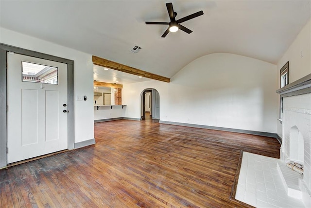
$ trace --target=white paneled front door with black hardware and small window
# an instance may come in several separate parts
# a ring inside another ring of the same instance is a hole
[[[7,163],[68,149],[67,64],[7,55]]]

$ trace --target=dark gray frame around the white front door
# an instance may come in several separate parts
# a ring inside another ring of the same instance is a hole
[[[68,65],[68,149],[74,148],[74,96],[73,96],[73,60],[55,57],[23,48],[0,43],[0,168],[7,166],[7,52],[38,57]]]

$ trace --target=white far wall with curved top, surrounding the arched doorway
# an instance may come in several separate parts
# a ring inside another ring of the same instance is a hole
[[[146,88],[160,94],[160,120],[276,133],[276,65],[234,54],[200,57],[171,83],[124,84],[124,117],[139,118]]]

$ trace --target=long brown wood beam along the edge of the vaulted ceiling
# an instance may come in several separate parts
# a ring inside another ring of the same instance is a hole
[[[107,60],[107,59],[104,59],[104,58],[101,58],[101,57],[93,56],[92,59],[93,59],[93,63],[95,65],[98,65],[98,66],[103,66],[103,67],[107,67],[107,68],[110,68],[110,69],[114,69],[114,70],[118,70],[118,71],[121,71],[121,72],[125,72],[125,73],[128,73],[128,74],[137,75],[137,76],[143,76],[143,77],[146,77],[146,78],[151,78],[151,79],[155,79],[155,80],[159,80],[159,81],[163,81],[163,82],[171,82],[171,79],[168,78],[168,77],[160,76],[160,75],[155,75],[153,73],[145,72],[145,71],[142,71],[140,69],[136,69],[134,67],[126,66],[124,64],[117,63],[117,62],[114,62],[114,61],[110,61],[110,60]]]

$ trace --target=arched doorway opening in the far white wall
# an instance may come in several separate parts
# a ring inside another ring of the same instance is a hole
[[[140,116],[142,120],[160,119],[160,95],[154,88],[147,88],[140,95]]]

